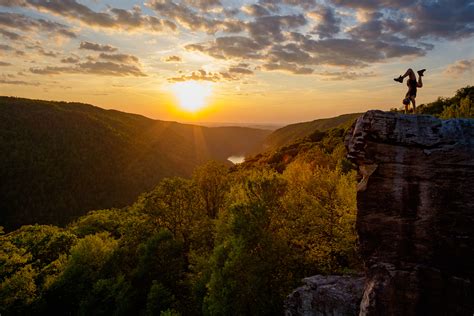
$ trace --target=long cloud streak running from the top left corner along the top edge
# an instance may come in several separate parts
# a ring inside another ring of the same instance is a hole
[[[0,5],[33,8],[77,20],[88,26],[102,28],[150,32],[176,29],[176,25],[170,21],[144,15],[139,6],[134,6],[131,10],[108,8],[104,12],[95,12],[76,0],[0,0]]]

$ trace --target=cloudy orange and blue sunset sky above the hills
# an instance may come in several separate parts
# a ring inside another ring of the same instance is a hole
[[[472,0],[0,0],[0,95],[180,122],[401,107],[473,84]]]

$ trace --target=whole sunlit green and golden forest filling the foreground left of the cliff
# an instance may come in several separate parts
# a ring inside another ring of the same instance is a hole
[[[208,163],[66,228],[0,234],[0,313],[282,314],[301,278],[359,268],[343,132]]]

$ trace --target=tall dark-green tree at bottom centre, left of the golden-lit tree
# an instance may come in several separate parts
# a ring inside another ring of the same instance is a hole
[[[255,172],[234,188],[239,197],[223,214],[211,257],[205,313],[275,315],[291,288],[288,249],[273,233],[284,182],[273,172]]]

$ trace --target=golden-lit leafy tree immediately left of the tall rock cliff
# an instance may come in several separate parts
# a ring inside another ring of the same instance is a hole
[[[305,273],[339,273],[357,264],[355,173],[295,161],[283,177],[279,233],[296,251]]]

